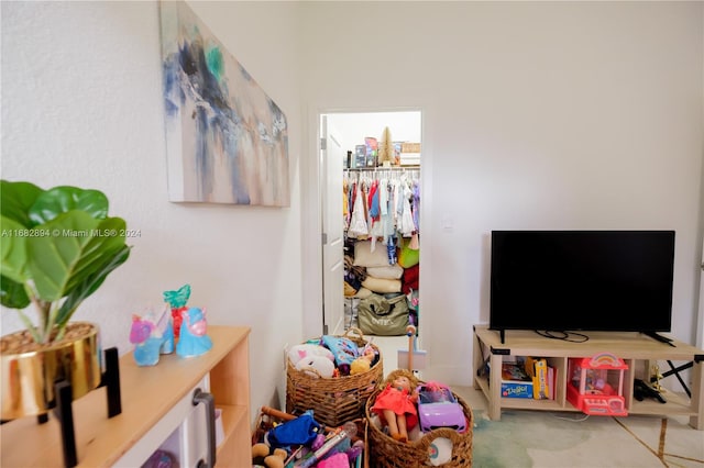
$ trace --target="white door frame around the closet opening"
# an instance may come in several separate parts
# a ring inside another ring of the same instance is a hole
[[[320,118],[330,113],[373,113],[373,112],[420,112],[420,140],[426,145],[426,110],[419,105],[398,108],[326,108],[311,107],[306,112],[307,142],[304,154],[308,157],[300,159],[300,199],[301,199],[301,278],[302,278],[302,335],[319,336],[322,333],[322,164],[320,141],[322,137]],[[428,171],[428,160],[420,164],[420,183],[424,193],[425,172]],[[420,230],[422,231],[426,213],[424,205],[428,201],[425,196],[420,201]],[[424,249],[424,257],[428,257],[429,249]]]

